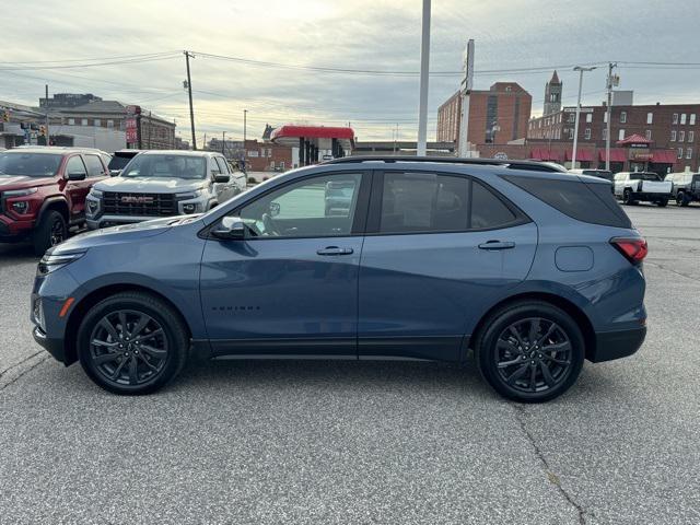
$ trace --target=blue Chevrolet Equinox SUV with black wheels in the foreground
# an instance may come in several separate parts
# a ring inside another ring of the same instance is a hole
[[[536,402],[565,392],[584,359],[640,348],[645,255],[600,178],[525,161],[343,158],[201,215],[49,249],[32,319],[56,359],[117,394],[161,388],[190,354],[472,353],[497,392]]]

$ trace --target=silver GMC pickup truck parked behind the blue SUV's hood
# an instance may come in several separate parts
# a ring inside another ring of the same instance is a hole
[[[246,190],[245,174],[230,172],[221,153],[143,151],[88,196],[88,228],[201,213]]]

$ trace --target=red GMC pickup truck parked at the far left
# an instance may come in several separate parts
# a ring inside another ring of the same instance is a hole
[[[35,147],[0,153],[0,241],[28,238],[36,255],[85,224],[85,197],[108,176],[105,153]]]

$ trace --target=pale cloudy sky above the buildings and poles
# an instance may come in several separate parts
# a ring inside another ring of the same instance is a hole
[[[205,132],[222,131],[241,138],[244,108],[248,137],[258,137],[266,122],[308,121],[351,122],[360,140],[392,140],[398,126],[400,138],[415,140],[421,4],[3,0],[0,100],[37,105],[48,83],[51,93],[90,92],[140,104],[176,119],[179,133],[188,138],[182,85],[182,51],[188,49],[196,55],[191,70],[198,140]],[[533,95],[534,114],[541,112],[551,69],[557,67],[564,81],[564,104],[573,105],[578,79],[571,67],[609,60],[674,62],[621,65],[620,89],[634,90],[635,103],[700,102],[700,66],[676,65],[700,61],[697,0],[432,4],[429,140],[435,136],[438,106],[457,89],[459,75],[451,72],[462,67],[467,38],[476,40],[475,89],[488,89],[494,81],[518,82]],[[397,71],[408,74],[380,74]],[[587,73],[584,104],[604,98],[605,74],[604,67]]]

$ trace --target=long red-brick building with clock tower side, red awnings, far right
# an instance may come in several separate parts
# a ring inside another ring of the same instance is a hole
[[[547,143],[573,142],[575,107],[534,118],[528,125],[528,142]],[[584,143],[595,148],[605,148],[607,132],[606,106],[586,106],[581,108],[579,122],[579,148]],[[650,161],[668,161],[667,150],[674,150],[674,170],[698,170],[700,149],[700,104],[653,104],[653,105],[614,105],[610,118],[610,148],[633,135],[649,142]],[[642,154],[642,153],[640,153]],[[619,152],[617,153],[619,158]],[[610,154],[612,160],[614,153]],[[632,159],[626,159],[632,161]],[[621,162],[621,161],[617,161]],[[629,163],[628,163],[629,164]],[[664,162],[663,164],[669,164]],[[653,166],[652,166],[653,167]]]

